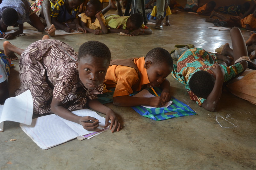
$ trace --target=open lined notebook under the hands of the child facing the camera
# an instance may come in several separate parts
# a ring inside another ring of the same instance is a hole
[[[95,136],[97,135],[95,132],[102,132],[100,130],[108,129],[104,128],[105,118],[90,109],[75,110],[72,113],[78,116],[95,117],[100,121],[99,127],[95,130],[85,130],[82,125],[63,119],[55,114],[33,119],[30,126],[20,123],[20,127],[42,149],[49,149],[78,136],[83,136],[79,139]]]

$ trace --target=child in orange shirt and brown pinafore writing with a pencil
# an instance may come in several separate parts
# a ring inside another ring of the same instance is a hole
[[[171,73],[173,61],[170,53],[163,48],[154,48],[146,57],[116,59],[110,62],[104,84],[108,89],[114,88],[113,104],[116,106],[163,107],[170,101],[170,83],[166,77]],[[160,86],[161,96],[137,98],[129,96],[143,87]]]

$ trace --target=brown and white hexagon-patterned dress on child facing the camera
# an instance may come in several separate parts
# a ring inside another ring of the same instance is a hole
[[[52,96],[69,111],[86,106],[86,92],[77,88],[77,54],[74,49],[59,40],[39,40],[28,46],[20,56],[21,86],[15,92],[19,95],[30,90],[34,103],[34,114],[52,113]],[[88,94],[97,99],[103,92],[103,83]]]

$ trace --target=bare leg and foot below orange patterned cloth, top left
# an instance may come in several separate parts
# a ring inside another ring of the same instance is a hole
[[[55,3],[55,0],[51,0],[52,3]],[[47,25],[48,34],[50,36],[55,35],[55,26],[51,21],[51,3],[50,0],[36,0],[31,4],[31,10],[36,13],[44,25]]]

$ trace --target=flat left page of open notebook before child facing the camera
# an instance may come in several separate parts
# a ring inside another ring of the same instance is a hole
[[[30,126],[20,124],[21,129],[42,149],[48,149],[74,139],[78,134],[55,115],[41,116]]]

